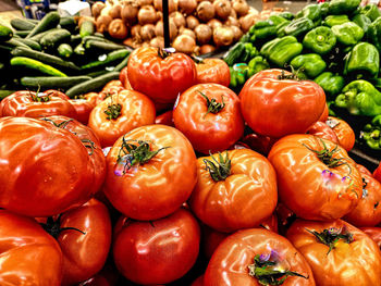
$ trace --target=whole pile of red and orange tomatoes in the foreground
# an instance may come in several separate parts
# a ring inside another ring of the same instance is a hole
[[[381,166],[314,82],[229,83],[138,48],[100,92],[2,100],[0,285],[381,286]]]

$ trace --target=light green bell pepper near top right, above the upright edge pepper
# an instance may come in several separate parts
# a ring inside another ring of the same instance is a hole
[[[364,37],[364,30],[353,22],[335,25],[331,29],[337,41],[344,46],[356,45]]]

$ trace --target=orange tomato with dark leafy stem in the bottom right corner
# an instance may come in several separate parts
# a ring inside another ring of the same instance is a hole
[[[381,252],[355,226],[342,220],[297,220],[287,238],[308,261],[317,285],[381,285]]]

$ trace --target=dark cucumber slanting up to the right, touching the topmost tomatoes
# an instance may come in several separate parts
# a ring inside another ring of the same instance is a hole
[[[84,82],[76,86],[73,86],[66,91],[66,96],[70,98],[74,98],[75,96],[85,95],[89,91],[97,91],[106,86],[107,83],[113,79],[119,78],[119,72],[111,72],[105,75],[95,77],[90,80]]]

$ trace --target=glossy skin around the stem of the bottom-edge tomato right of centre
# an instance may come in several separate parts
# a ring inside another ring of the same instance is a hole
[[[259,228],[238,231],[221,243],[209,261],[204,285],[259,286],[258,279],[248,274],[248,265],[257,254],[270,256],[271,252],[276,253],[290,271],[307,277],[287,277],[282,285],[316,285],[311,269],[299,251],[284,237]]]

